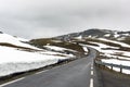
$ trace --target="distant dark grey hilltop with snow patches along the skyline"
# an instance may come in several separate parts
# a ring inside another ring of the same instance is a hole
[[[130,32],[117,32],[117,30],[108,30],[108,29],[98,29],[92,28],[80,33],[73,33],[68,35],[63,35],[55,37],[56,39],[69,41],[74,38],[106,38],[112,40],[123,41],[130,44]]]

